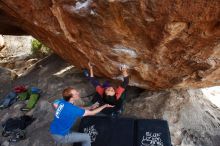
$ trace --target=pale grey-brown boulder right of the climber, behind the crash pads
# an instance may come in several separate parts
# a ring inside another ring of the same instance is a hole
[[[219,111],[201,90],[143,92],[125,106],[127,116],[167,120],[173,146],[219,146]]]

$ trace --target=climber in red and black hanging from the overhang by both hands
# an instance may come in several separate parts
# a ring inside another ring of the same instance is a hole
[[[96,94],[94,95],[92,102],[95,103],[98,101],[100,105],[106,103],[114,105],[113,108],[105,109],[102,111],[102,113],[111,116],[120,115],[123,111],[123,103],[126,97],[126,87],[129,83],[127,67],[124,65],[120,68],[124,81],[121,83],[120,86],[115,89],[108,82],[105,82],[103,85],[101,85],[99,81],[96,80],[96,78],[94,77],[93,65],[91,63],[88,63],[88,66],[90,74],[86,69],[83,71],[83,73],[96,88]]]

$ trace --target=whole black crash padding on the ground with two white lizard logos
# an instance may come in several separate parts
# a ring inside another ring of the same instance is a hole
[[[79,132],[89,133],[92,146],[171,146],[164,120],[89,116],[82,118]]]

